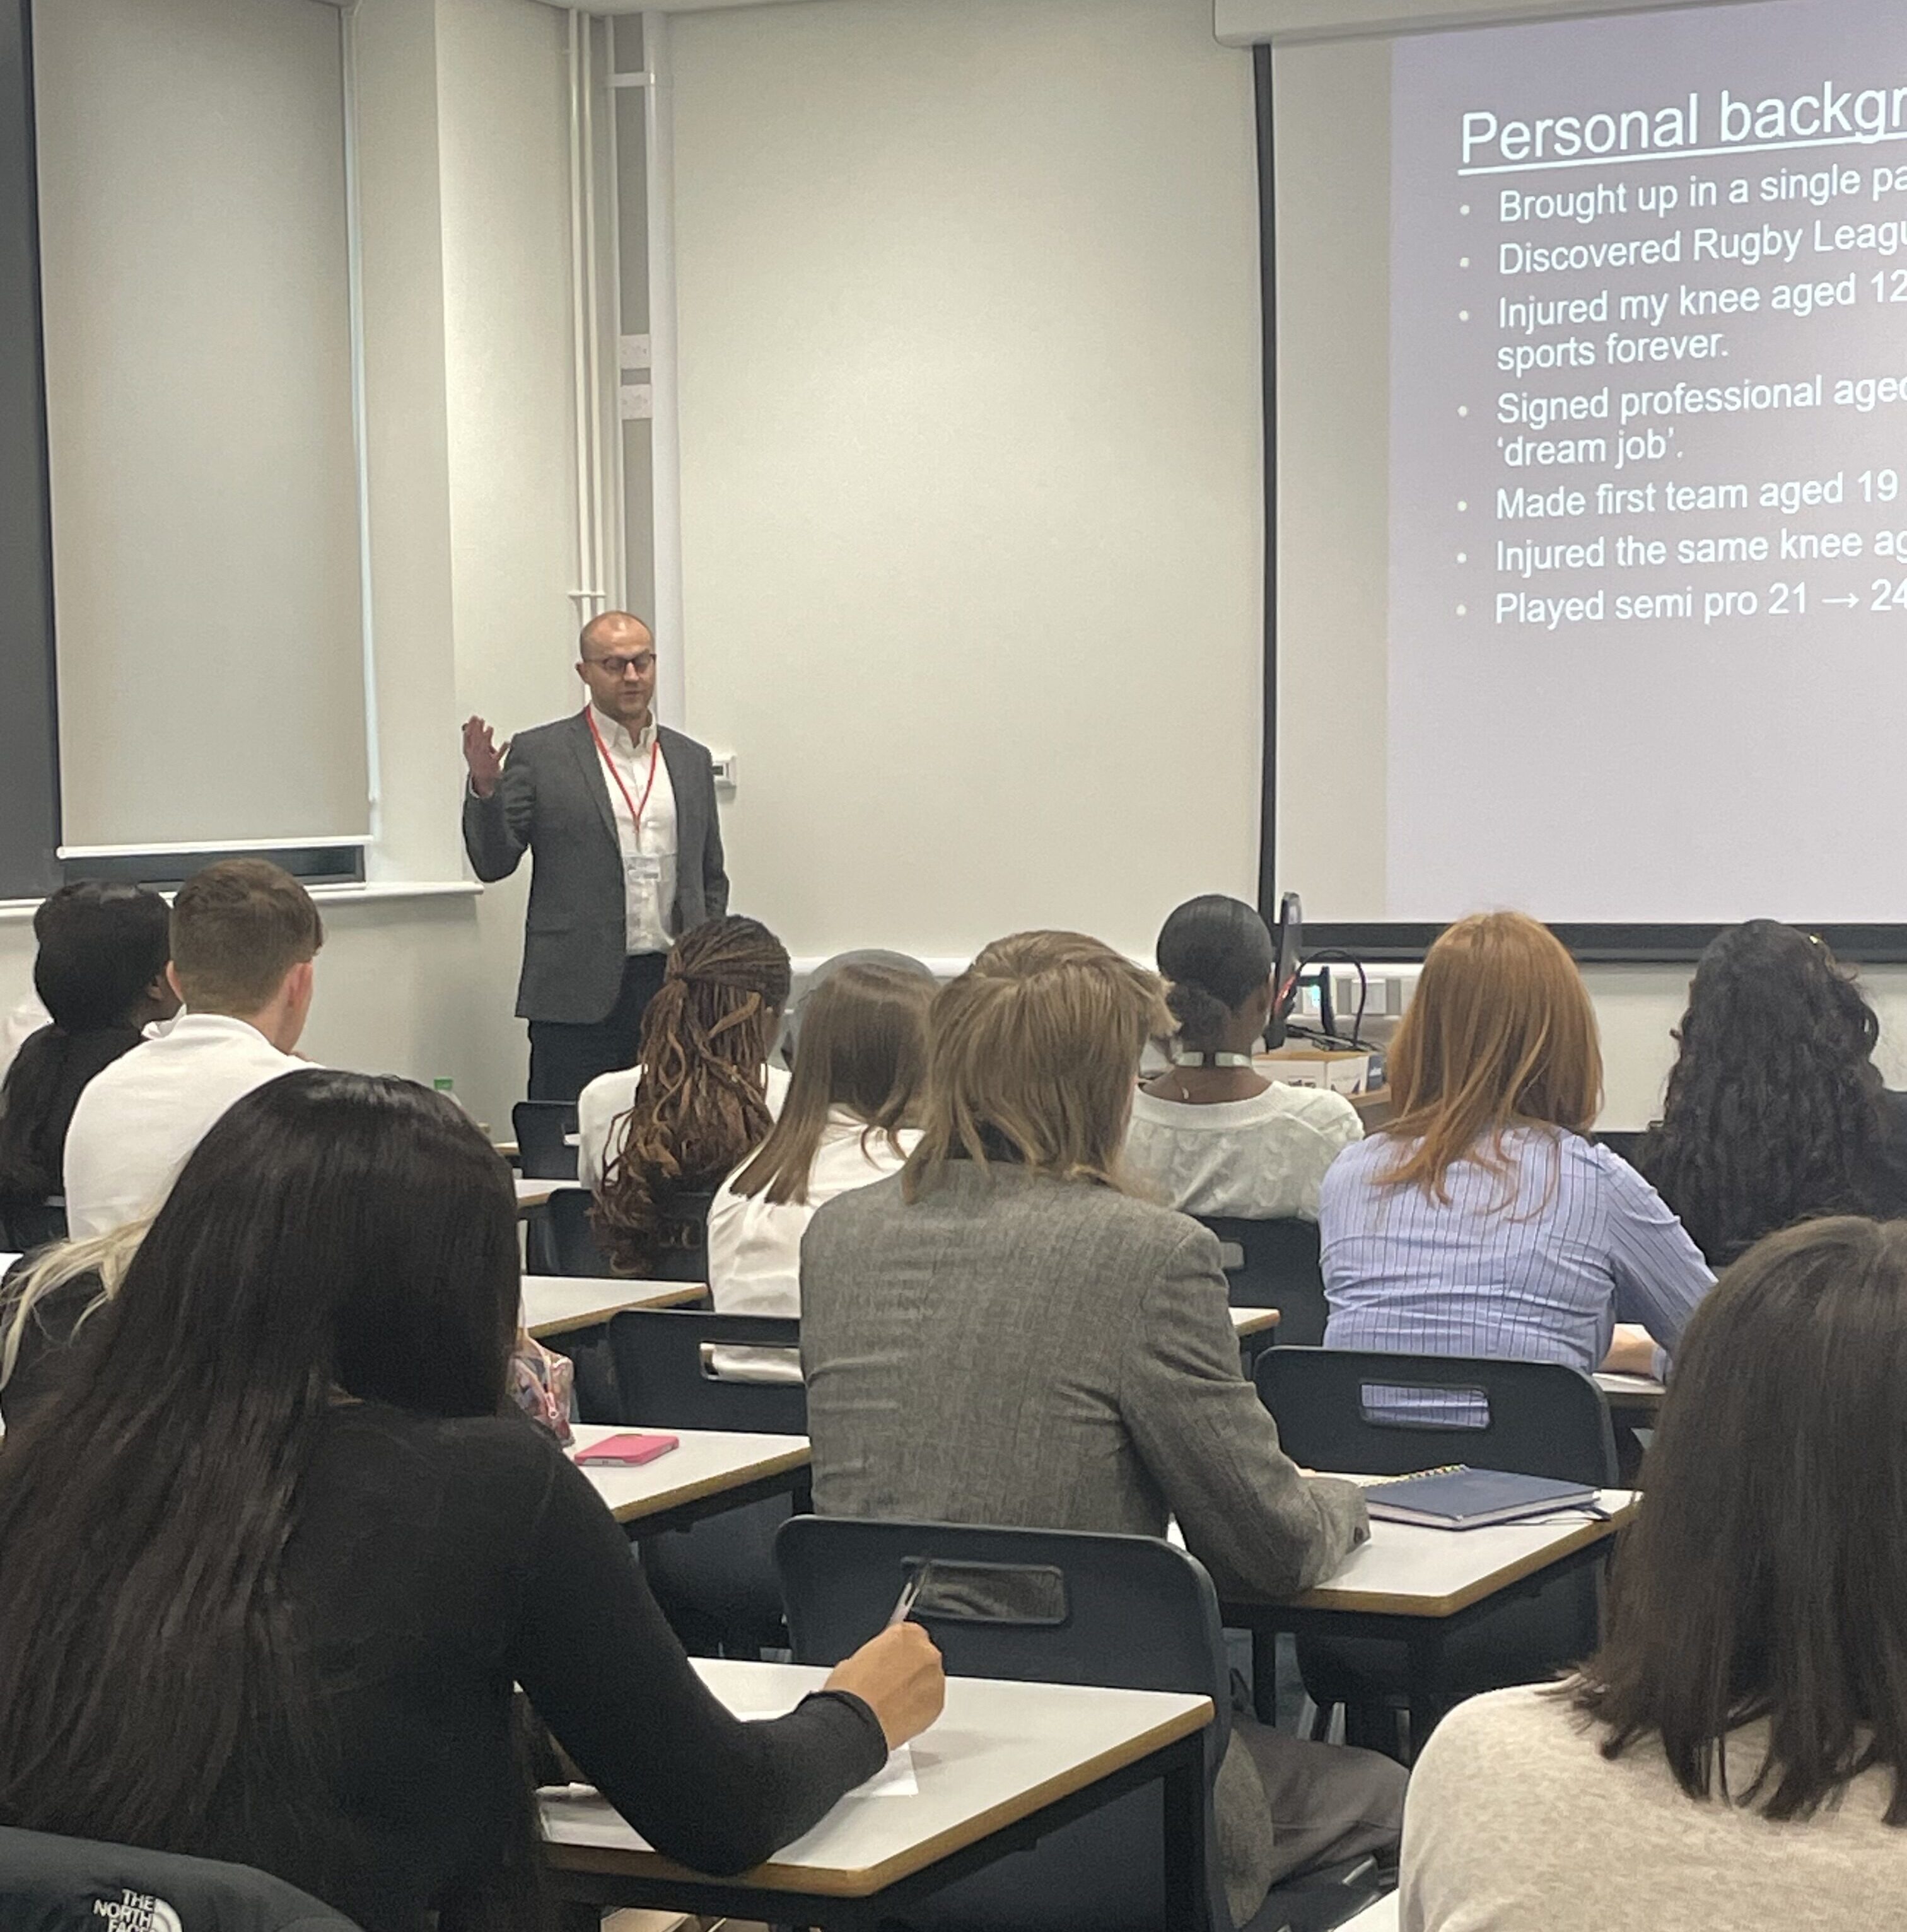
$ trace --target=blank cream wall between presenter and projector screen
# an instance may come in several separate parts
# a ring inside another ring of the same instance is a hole
[[[690,728],[794,952],[1148,951],[1258,850],[1250,62],[1206,0],[670,21]]]

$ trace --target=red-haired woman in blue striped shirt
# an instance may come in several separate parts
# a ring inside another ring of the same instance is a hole
[[[1602,1053],[1557,937],[1521,912],[1459,920],[1389,1070],[1395,1119],[1320,1198],[1325,1347],[1660,1372],[1714,1277],[1656,1190],[1582,1138]],[[1617,1321],[1646,1335],[1611,1350]]]

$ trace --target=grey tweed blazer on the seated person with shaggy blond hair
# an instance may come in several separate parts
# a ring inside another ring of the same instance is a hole
[[[1163,1536],[1221,1596],[1283,1598],[1370,1534],[1306,1478],[1238,1370],[1219,1242],[1169,1208],[951,1161],[839,1194],[802,1238],[802,1372],[825,1517]],[[1273,1822],[1240,1737],[1213,1793],[1225,1889],[1264,1897]]]

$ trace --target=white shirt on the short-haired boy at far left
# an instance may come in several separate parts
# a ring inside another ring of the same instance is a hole
[[[155,1213],[207,1128],[253,1088],[305,1063],[224,1012],[182,1012],[97,1072],[66,1130],[66,1225],[106,1235]]]

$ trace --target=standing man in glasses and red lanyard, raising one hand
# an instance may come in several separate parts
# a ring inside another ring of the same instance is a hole
[[[655,723],[655,639],[605,611],[582,634],[589,703],[497,750],[464,724],[464,850],[483,881],[533,852],[518,1018],[529,1022],[529,1097],[576,1099],[632,1066],[669,947],[728,910],[715,767]]]

